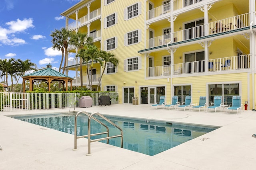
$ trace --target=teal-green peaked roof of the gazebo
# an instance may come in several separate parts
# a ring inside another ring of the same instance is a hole
[[[56,70],[52,69],[52,65],[48,64],[47,68],[43,69],[43,70],[38,70],[36,72],[32,72],[30,74],[26,74],[22,77],[26,77],[26,76],[54,76],[54,77],[62,77],[62,78],[71,78],[65,74],[62,74],[61,72],[58,72]],[[72,80],[74,78],[71,78]]]

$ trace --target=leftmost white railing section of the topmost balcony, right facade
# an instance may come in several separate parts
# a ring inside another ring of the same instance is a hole
[[[147,12],[147,20],[150,20],[150,19],[156,18],[158,16],[162,16],[164,14],[169,13],[170,10],[171,10],[171,6],[170,5],[171,5],[171,3],[169,2],[169,3],[166,3],[166,4],[162,5],[162,6],[158,6],[158,7],[154,8],[154,9],[152,9],[152,10],[149,10]]]

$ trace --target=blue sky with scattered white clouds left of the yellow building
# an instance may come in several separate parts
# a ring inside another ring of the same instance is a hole
[[[0,59],[30,59],[38,68],[48,63],[59,68],[61,52],[52,50],[50,33],[65,27],[60,14],[79,1],[0,0]]]

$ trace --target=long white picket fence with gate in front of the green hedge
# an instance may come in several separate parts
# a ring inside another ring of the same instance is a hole
[[[81,96],[91,96],[92,105],[98,106],[100,96],[109,96],[111,104],[118,104],[117,92],[106,93],[0,93],[0,111],[69,108],[74,102],[79,107]],[[74,107],[74,105],[72,105]]]

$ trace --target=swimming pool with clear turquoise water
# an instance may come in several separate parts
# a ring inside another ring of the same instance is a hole
[[[43,115],[14,115],[11,117],[74,135],[74,114],[67,115],[67,113],[55,113]],[[100,117],[97,119],[100,119]],[[120,117],[108,117],[108,119],[122,128],[124,132],[124,149],[133,150],[150,156],[176,147],[177,145],[216,129],[214,127],[192,127],[182,124],[174,125],[172,123],[153,120]],[[110,136],[120,134],[120,131],[110,123],[103,119],[100,119],[100,121],[104,122],[104,124],[109,127]],[[77,125],[78,136],[88,134],[88,117],[86,115],[78,116]],[[99,133],[101,131],[106,131],[106,128],[92,120],[91,133]],[[102,137],[106,137],[106,135],[91,137],[91,139]],[[106,143],[106,140],[101,142]],[[109,144],[120,147],[120,137],[109,139]]]

